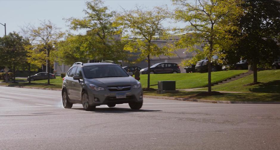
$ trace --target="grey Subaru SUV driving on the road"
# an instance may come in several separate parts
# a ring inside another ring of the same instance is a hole
[[[79,103],[85,110],[94,110],[99,105],[128,103],[131,109],[140,109],[143,90],[130,74],[117,64],[74,63],[63,78],[63,107]]]

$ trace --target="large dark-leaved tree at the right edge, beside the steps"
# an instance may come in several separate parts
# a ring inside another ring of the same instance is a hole
[[[256,84],[258,65],[271,66],[280,56],[280,3],[262,0],[243,1],[244,13],[237,23],[241,32],[234,34],[239,42],[233,50],[239,58],[247,59],[252,65],[253,83]]]

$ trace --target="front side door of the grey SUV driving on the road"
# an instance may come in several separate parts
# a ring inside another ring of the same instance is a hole
[[[80,76],[80,81],[79,80],[73,80],[72,81],[72,96],[74,100],[82,100],[82,87],[83,87],[83,74],[82,74],[82,69],[81,67],[77,68],[76,74]]]

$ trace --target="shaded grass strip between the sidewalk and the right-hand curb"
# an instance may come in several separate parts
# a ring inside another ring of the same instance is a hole
[[[244,102],[279,102],[280,94],[271,93],[224,93],[224,95],[196,96],[201,91],[179,91],[179,93],[157,94],[156,91],[144,91],[144,95],[193,98],[202,100],[244,101]]]

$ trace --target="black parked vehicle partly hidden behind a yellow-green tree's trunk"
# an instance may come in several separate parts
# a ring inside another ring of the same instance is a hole
[[[208,59],[203,59],[201,61],[197,61],[195,65],[195,72],[207,72],[208,71]],[[212,63],[211,72],[222,70],[222,66],[216,63]]]

